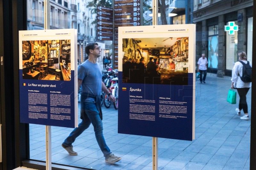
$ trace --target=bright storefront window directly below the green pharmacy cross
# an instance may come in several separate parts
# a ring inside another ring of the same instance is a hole
[[[228,23],[226,23],[228,25]],[[235,21],[237,25],[237,21]],[[234,35],[230,35],[226,32],[226,69],[232,70],[234,63],[237,62],[237,31]]]

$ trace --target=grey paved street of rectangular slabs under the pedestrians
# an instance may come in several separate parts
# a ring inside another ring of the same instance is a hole
[[[158,138],[159,170],[249,170],[251,121],[240,119],[243,112],[236,115],[238,94],[236,105],[226,101],[230,79],[207,74],[206,84],[196,81],[196,139]],[[247,102],[251,115],[251,90]],[[152,137],[118,134],[117,110],[113,104],[102,108],[104,137],[122,160],[114,165],[105,163],[91,125],[73,144],[77,156],[68,155],[61,147],[72,129],[52,127],[52,162],[97,170],[152,169]],[[30,158],[45,161],[45,126],[30,124]]]

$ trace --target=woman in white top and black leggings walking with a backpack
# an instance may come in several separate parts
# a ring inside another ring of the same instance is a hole
[[[238,57],[239,61],[234,64],[232,69],[231,89],[236,89],[240,98],[238,108],[236,108],[236,114],[241,115],[241,110],[243,109],[244,116],[240,117],[240,119],[249,120],[246,94],[252,86],[252,82],[244,82],[242,77],[244,73],[243,67],[245,67],[244,64],[249,63],[251,67],[252,65],[249,61],[247,61],[247,55],[245,52],[238,53]]]

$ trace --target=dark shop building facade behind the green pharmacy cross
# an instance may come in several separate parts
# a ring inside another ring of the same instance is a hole
[[[252,5],[253,0],[194,0],[196,61],[205,53],[209,72],[230,76],[242,51],[252,62]],[[238,30],[225,31],[232,24]]]

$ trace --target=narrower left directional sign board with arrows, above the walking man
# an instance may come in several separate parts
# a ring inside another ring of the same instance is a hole
[[[113,40],[113,9],[97,7],[97,40]]]

